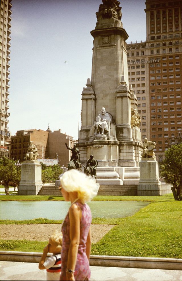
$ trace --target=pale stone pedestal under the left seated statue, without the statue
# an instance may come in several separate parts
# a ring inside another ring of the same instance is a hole
[[[42,166],[36,161],[25,161],[21,165],[21,181],[18,195],[37,195],[42,187]]]

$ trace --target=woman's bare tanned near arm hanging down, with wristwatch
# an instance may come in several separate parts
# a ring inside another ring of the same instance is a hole
[[[70,220],[70,246],[68,252],[67,268],[75,270],[78,246],[80,242],[80,218],[81,209],[76,204],[73,204],[69,209]],[[67,280],[75,280],[73,273],[67,272]]]

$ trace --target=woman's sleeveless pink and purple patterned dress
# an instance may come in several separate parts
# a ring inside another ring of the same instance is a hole
[[[90,280],[89,261],[86,256],[86,240],[92,221],[92,215],[90,207],[87,204],[82,204],[79,201],[76,201],[75,204],[82,210],[82,218],[80,221],[80,243],[78,246],[74,277],[75,280],[80,281]],[[66,280],[67,259],[70,245],[69,228],[70,222],[68,213],[62,225],[63,240],[61,249],[61,275],[59,280]]]

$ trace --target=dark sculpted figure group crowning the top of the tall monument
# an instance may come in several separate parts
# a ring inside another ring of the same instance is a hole
[[[99,11],[96,12],[97,19],[117,18],[121,20],[121,7],[120,2],[116,0],[102,0],[103,4],[100,4]]]

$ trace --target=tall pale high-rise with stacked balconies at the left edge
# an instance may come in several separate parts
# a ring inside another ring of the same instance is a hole
[[[0,1],[0,158],[8,157],[9,151],[9,67],[11,47],[11,0]]]

